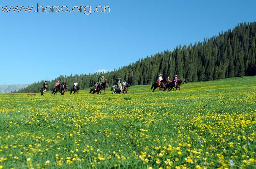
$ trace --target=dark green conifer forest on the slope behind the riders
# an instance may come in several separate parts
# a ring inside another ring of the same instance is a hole
[[[173,51],[156,53],[108,73],[61,75],[48,81],[49,89],[54,87],[56,80],[61,82],[63,79],[71,85],[77,80],[80,89],[89,88],[99,81],[101,75],[108,79],[110,85],[118,77],[132,85],[148,85],[156,81],[158,74],[171,78],[178,75],[185,82],[256,75],[255,41],[256,22],[244,23],[203,42],[180,45]],[[39,92],[43,82],[35,82],[18,92]]]

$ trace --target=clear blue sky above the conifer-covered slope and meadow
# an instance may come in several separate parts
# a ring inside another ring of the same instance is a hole
[[[110,13],[3,13],[0,84],[113,70],[256,21],[256,1],[0,0],[1,6],[109,6]],[[88,8],[89,10],[89,8]],[[70,10],[68,10],[70,11]]]

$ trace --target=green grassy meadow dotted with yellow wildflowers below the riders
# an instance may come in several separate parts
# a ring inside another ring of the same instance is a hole
[[[1,168],[255,168],[256,77],[0,95]]]

